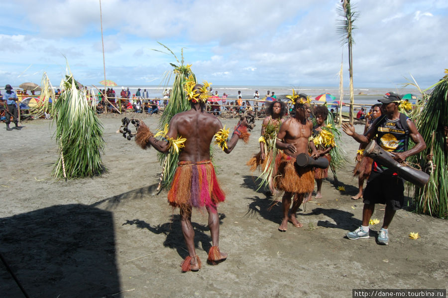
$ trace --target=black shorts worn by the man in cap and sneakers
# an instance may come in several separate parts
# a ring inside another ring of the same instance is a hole
[[[403,179],[397,175],[378,174],[367,181],[362,196],[364,204],[386,204],[393,210],[401,209],[404,202]]]

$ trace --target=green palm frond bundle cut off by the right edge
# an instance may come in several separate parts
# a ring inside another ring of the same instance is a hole
[[[434,85],[433,85],[434,86]],[[432,86],[432,87],[433,87]],[[432,88],[430,87],[430,88]],[[420,109],[419,109],[420,112]],[[444,127],[448,126],[448,76],[435,84],[431,96],[427,97],[423,110],[416,118],[416,125],[428,149],[433,151],[435,169],[423,188],[415,188],[415,211],[440,218],[448,217],[448,158],[444,145]],[[434,133],[434,143],[432,135]],[[409,158],[412,163],[425,167],[427,152]]]

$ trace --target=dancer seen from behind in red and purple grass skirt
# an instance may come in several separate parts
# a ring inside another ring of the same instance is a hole
[[[216,138],[226,153],[230,153],[239,139],[248,138],[247,121],[238,122],[230,140],[228,130],[223,129],[220,120],[206,112],[209,94],[208,84],[196,84],[187,81],[185,91],[191,109],[175,115],[169,125],[168,133],[163,141],[154,138],[148,127],[140,121],[137,124],[135,142],[143,149],[153,146],[160,152],[168,152],[170,147],[179,150],[179,163],[174,174],[168,201],[171,206],[179,207],[182,232],[189,256],[182,263],[182,271],[198,271],[201,261],[196,255],[194,236],[191,224],[193,207],[206,208],[209,214],[209,227],[212,235],[212,248],[208,261],[212,264],[224,261],[227,254],[219,249],[220,222],[217,211],[218,203],[224,201],[224,193],[216,178],[210,157],[210,144]],[[177,140],[175,140],[178,138]],[[181,146],[175,144],[181,138]]]

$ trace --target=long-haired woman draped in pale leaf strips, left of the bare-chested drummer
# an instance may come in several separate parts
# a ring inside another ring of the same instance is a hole
[[[269,104],[266,109],[268,116],[263,120],[261,137],[258,139],[260,151],[246,163],[250,166],[251,171],[255,171],[256,168],[263,171],[258,177],[258,179],[261,179],[260,187],[268,186],[271,195],[276,193],[273,186],[273,177],[277,172],[280,158],[280,154],[277,154],[277,148],[275,147],[275,139],[280,126],[285,121],[286,112],[286,104],[281,101],[276,100]]]

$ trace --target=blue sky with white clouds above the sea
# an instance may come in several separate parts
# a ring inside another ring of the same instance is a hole
[[[448,1],[352,0],[355,87],[396,87],[411,74],[421,87],[448,68]],[[199,80],[214,85],[337,86],[343,52],[339,0],[103,0],[107,79],[158,85],[167,45]],[[26,7],[26,8],[25,8]],[[0,84],[59,85],[65,55],[83,84],[104,79],[99,0],[2,1]],[[5,13],[8,12],[8,13]]]

